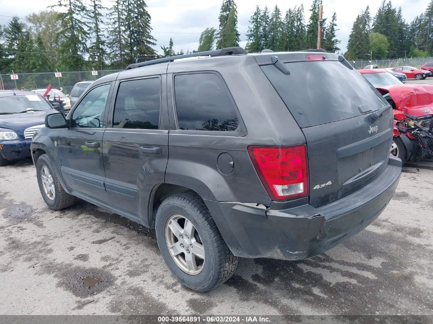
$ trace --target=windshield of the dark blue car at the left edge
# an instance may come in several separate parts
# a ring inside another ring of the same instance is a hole
[[[18,114],[27,110],[50,110],[51,105],[41,96],[24,95],[0,98],[0,114]]]

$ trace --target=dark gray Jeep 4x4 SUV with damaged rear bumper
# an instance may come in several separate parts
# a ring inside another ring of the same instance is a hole
[[[231,48],[100,78],[31,152],[50,208],[78,197],[155,228],[203,292],[238,257],[302,260],[372,223],[400,177],[392,138],[391,107],[341,55]]]

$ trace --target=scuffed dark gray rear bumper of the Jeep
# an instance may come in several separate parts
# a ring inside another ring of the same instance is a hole
[[[236,202],[205,202],[233,254],[303,260],[371,224],[393,197],[400,173],[401,160],[390,157],[373,182],[320,208],[306,204],[275,210]]]

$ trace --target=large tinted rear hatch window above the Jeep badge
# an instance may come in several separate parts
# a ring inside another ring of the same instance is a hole
[[[387,105],[373,85],[341,61],[284,64],[290,75],[274,64],[261,69],[301,128],[360,116]]]

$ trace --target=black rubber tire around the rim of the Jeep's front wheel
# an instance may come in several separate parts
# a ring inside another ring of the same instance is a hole
[[[47,196],[47,194],[44,191],[43,185],[42,185],[42,179],[41,179],[41,169],[43,166],[46,166],[48,170],[50,171],[50,174],[53,178],[53,185],[54,185],[54,199],[50,200]],[[50,161],[50,158],[43,154],[41,155],[36,162],[36,177],[37,177],[37,183],[39,185],[40,194],[42,195],[42,198],[44,198],[45,203],[53,210],[59,210],[64,209],[72,206],[76,202],[76,197],[69,195],[68,192],[65,191],[65,189],[61,186],[60,181],[58,180],[57,173],[53,167],[53,164]]]

